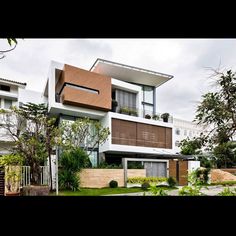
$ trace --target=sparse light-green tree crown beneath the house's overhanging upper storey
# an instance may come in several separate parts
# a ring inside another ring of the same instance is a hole
[[[107,140],[110,131],[104,128],[100,121],[88,117],[76,121],[64,120],[60,124],[61,145],[65,149],[82,148],[88,155]]]

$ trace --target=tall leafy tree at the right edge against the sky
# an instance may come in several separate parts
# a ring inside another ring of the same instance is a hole
[[[197,107],[195,121],[209,127],[208,145],[217,158],[217,165],[235,163],[233,137],[236,133],[236,75],[215,71],[213,79],[216,91],[202,96]]]

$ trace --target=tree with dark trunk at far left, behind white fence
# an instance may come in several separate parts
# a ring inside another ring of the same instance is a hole
[[[24,158],[24,164],[31,167],[31,182],[39,184],[40,165],[50,157],[55,144],[57,128],[55,119],[49,118],[45,104],[23,104],[20,108],[12,107],[10,110],[1,110],[3,122],[0,124],[8,132],[13,145],[13,153]],[[52,187],[52,175],[50,168]]]

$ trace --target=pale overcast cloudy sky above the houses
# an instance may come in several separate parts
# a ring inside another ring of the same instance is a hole
[[[9,48],[0,40],[0,50]],[[42,92],[51,60],[89,70],[97,58],[173,75],[157,88],[158,112],[192,121],[212,89],[209,68],[236,68],[236,39],[18,39],[0,77]]]

